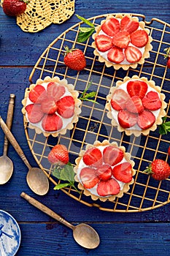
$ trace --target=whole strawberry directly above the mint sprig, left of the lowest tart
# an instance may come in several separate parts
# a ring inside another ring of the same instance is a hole
[[[69,162],[69,152],[62,144],[55,145],[48,154],[48,161],[53,165],[66,165]]]

